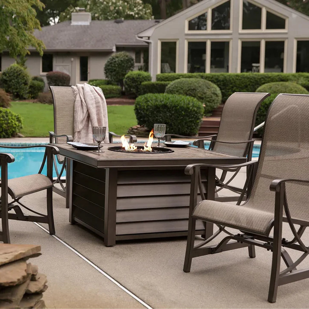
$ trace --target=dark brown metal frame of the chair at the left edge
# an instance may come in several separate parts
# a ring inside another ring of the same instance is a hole
[[[35,146],[3,146],[0,148],[11,148],[11,149],[23,149],[23,148],[45,148],[44,157],[38,171],[40,174],[43,170],[45,163],[47,163],[47,177],[53,182],[53,155],[59,154],[59,149],[52,145],[35,145]],[[47,214],[40,214],[35,210],[23,205],[20,199],[22,197],[12,198],[13,201],[8,202],[8,194],[10,189],[8,188],[8,163],[15,161],[15,158],[10,153],[0,153],[1,163],[1,204],[0,204],[0,217],[2,222],[2,232],[0,232],[0,241],[4,243],[10,243],[9,233],[9,219],[47,223],[49,226],[49,234],[55,234],[55,224],[53,219],[53,187],[47,188]],[[36,215],[24,215],[19,205],[29,210]],[[14,210],[15,214],[9,213],[10,210]]]

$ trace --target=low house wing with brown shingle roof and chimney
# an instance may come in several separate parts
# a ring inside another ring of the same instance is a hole
[[[35,30],[35,36],[46,46],[43,57],[30,48],[26,66],[32,76],[44,77],[49,71],[61,71],[71,76],[70,83],[104,78],[108,57],[127,51],[135,60],[135,70],[148,58],[148,44],[136,34],[159,20],[91,20],[88,12],[72,13],[71,20]],[[8,53],[0,54],[0,71],[15,60]],[[47,89],[47,88],[46,88]]]

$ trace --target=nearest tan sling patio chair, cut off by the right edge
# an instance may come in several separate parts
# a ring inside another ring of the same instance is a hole
[[[190,271],[193,257],[248,247],[249,256],[253,258],[255,246],[259,246],[272,252],[269,302],[276,301],[278,286],[309,277],[309,269],[296,270],[309,254],[309,248],[301,239],[309,226],[308,125],[309,95],[280,94],[269,108],[258,161],[229,166],[192,164],[186,167],[185,173],[191,175],[192,191],[184,272]],[[240,202],[232,205],[205,200],[203,196],[196,205],[197,188],[202,190],[199,181],[201,169],[235,171],[244,166],[251,167],[250,177],[254,182],[243,205]],[[197,219],[216,224],[218,231],[194,246]],[[284,224],[284,230],[282,222],[288,222]],[[240,232],[233,235],[226,227]],[[273,236],[270,236],[272,229]],[[205,246],[221,232],[227,236],[218,245]],[[286,236],[286,233],[292,236]],[[293,262],[285,248],[298,251],[300,257]],[[281,257],[286,268],[280,270]]]

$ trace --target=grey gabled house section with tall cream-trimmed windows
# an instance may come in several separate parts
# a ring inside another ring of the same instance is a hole
[[[309,72],[309,17],[274,0],[204,0],[139,32],[158,73]]]

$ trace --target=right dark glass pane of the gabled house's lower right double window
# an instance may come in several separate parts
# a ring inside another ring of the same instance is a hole
[[[283,72],[284,41],[265,42],[264,72]]]

